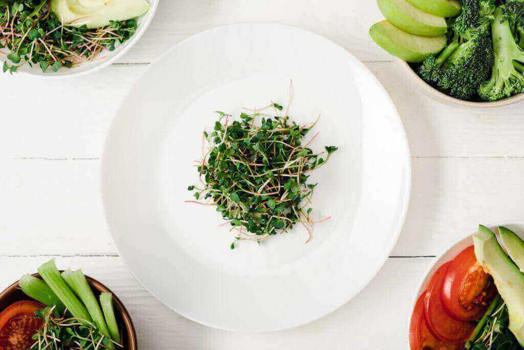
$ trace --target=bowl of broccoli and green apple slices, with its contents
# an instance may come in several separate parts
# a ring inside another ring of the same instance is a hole
[[[369,34],[439,102],[496,107],[524,100],[524,1],[377,0]]]

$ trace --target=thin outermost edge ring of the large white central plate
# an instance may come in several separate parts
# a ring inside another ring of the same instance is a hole
[[[106,151],[107,151],[108,139],[110,138],[110,135],[113,133],[113,129],[115,127],[116,116],[119,114],[119,112],[123,108],[123,101],[125,101],[127,99],[127,97],[132,93],[132,91],[138,85],[139,81],[143,78],[143,76],[145,76],[149,72],[149,70],[155,64],[157,64],[164,57],[168,56],[168,54],[170,54],[171,51],[176,50],[179,46],[183,45],[184,43],[186,43],[186,42],[188,42],[190,40],[198,39],[200,36],[203,36],[203,35],[206,35],[206,34],[210,34],[211,32],[218,31],[218,30],[221,30],[221,29],[224,29],[224,28],[227,28],[227,27],[237,27],[237,26],[245,26],[245,25],[249,25],[249,26],[271,25],[271,26],[275,26],[275,27],[281,27],[282,29],[285,29],[285,28],[290,29],[291,28],[291,29],[303,32],[304,34],[308,34],[308,35],[311,35],[311,36],[315,36],[315,37],[321,38],[321,39],[331,43],[331,45],[334,45],[334,46],[342,49],[344,51],[344,54],[346,54],[346,56],[351,61],[353,61],[356,65],[359,65],[359,67],[361,67],[363,69],[363,71],[365,71],[373,79],[373,81],[376,83],[376,85],[379,87],[379,89],[387,97],[387,101],[391,105],[392,112],[395,114],[395,119],[396,119],[396,122],[398,123],[398,126],[399,126],[399,132],[400,132],[400,135],[402,137],[402,143],[403,143],[403,147],[405,148],[405,157],[406,157],[406,175],[405,175],[405,178],[406,178],[407,186],[406,186],[406,189],[404,191],[405,193],[403,193],[403,195],[402,194],[399,195],[399,202],[401,202],[402,207],[401,207],[401,210],[399,211],[399,215],[398,215],[399,220],[398,220],[397,227],[392,228],[392,231],[395,232],[395,235],[394,235],[393,239],[391,240],[390,247],[385,249],[386,250],[386,254],[385,254],[384,258],[379,262],[379,264],[377,265],[377,268],[373,271],[373,273],[370,274],[370,277],[367,280],[365,280],[362,283],[361,287],[356,289],[355,292],[352,293],[347,298],[347,300],[345,300],[344,302],[340,303],[339,305],[335,305],[335,307],[333,307],[333,308],[328,309],[325,313],[323,313],[322,315],[320,315],[320,316],[318,316],[316,318],[313,318],[313,319],[310,319],[310,320],[307,320],[307,321],[296,322],[296,323],[293,323],[292,325],[285,326],[285,327],[268,328],[268,329],[259,330],[259,331],[257,331],[257,330],[255,330],[255,331],[242,330],[242,329],[235,329],[235,328],[230,328],[230,327],[223,327],[223,326],[220,326],[220,325],[217,325],[217,324],[212,324],[212,323],[205,322],[205,321],[202,321],[202,320],[197,320],[197,319],[195,319],[195,318],[193,318],[193,317],[191,317],[191,316],[189,316],[189,315],[187,315],[185,313],[180,312],[179,310],[176,310],[175,308],[169,306],[166,302],[164,302],[163,300],[158,298],[156,296],[156,294],[153,293],[148,287],[146,287],[144,285],[144,283],[137,277],[135,272],[130,268],[129,264],[127,263],[127,259],[124,257],[124,255],[122,254],[121,250],[119,249],[119,247],[118,247],[118,245],[116,243],[115,235],[111,231],[111,228],[110,228],[110,225],[109,225],[109,222],[108,222],[107,210],[106,210],[106,205],[105,205],[105,194],[104,194],[105,193],[105,190],[104,190],[105,189],[104,173],[105,173],[105,167],[106,167],[105,165],[106,165]],[[152,296],[154,296],[155,299],[160,301],[168,309],[178,313],[179,315],[181,315],[184,318],[186,318],[188,320],[191,320],[193,322],[196,322],[196,323],[208,326],[208,327],[212,327],[214,329],[224,330],[224,331],[234,331],[234,332],[243,332],[243,333],[268,333],[268,332],[277,332],[277,331],[283,331],[283,330],[290,330],[290,329],[294,329],[294,328],[299,327],[299,326],[303,326],[305,324],[309,324],[309,323],[318,321],[318,320],[324,318],[325,316],[333,313],[334,311],[340,309],[343,305],[345,305],[348,302],[350,302],[351,300],[353,300],[356,296],[358,296],[358,294],[360,294],[369,285],[369,283],[378,275],[380,270],[384,267],[384,264],[386,263],[386,261],[388,260],[390,254],[391,254],[391,251],[395,248],[395,245],[398,242],[398,239],[399,239],[400,234],[402,232],[402,227],[403,227],[403,225],[404,225],[404,223],[406,221],[406,217],[407,217],[408,209],[409,209],[409,204],[410,204],[410,200],[411,200],[412,164],[411,164],[411,151],[410,151],[410,148],[409,148],[409,141],[408,141],[408,137],[407,137],[407,133],[406,133],[406,128],[404,127],[404,125],[402,123],[402,119],[400,117],[400,114],[398,113],[398,110],[397,110],[397,107],[396,107],[395,103],[391,99],[391,96],[387,92],[387,90],[384,87],[384,85],[378,80],[378,78],[375,76],[375,74],[369,68],[366,67],[366,65],[361,60],[356,58],[353,53],[351,53],[350,51],[348,51],[347,49],[345,49],[344,47],[342,47],[338,43],[334,42],[333,40],[328,39],[328,38],[326,38],[326,37],[324,37],[324,36],[322,36],[320,34],[316,34],[315,32],[312,32],[310,30],[306,30],[306,29],[303,29],[303,28],[299,28],[299,27],[296,27],[296,26],[290,26],[290,25],[286,25],[286,24],[273,23],[273,22],[270,22],[270,21],[247,21],[247,22],[243,22],[243,23],[226,24],[226,25],[221,25],[221,26],[210,28],[210,29],[206,29],[204,31],[201,31],[201,32],[199,32],[197,34],[194,34],[194,35],[192,35],[192,36],[190,36],[188,38],[185,38],[184,40],[176,43],[170,49],[168,49],[166,52],[162,53],[157,59],[152,61],[149,64],[149,67],[143,73],[141,73],[138,76],[138,78],[135,80],[133,85],[129,88],[129,90],[127,91],[127,93],[125,94],[125,96],[123,97],[121,102],[119,103],[119,106],[118,106],[117,110],[115,111],[115,114],[113,115],[113,119],[111,121],[110,127],[107,129],[107,134],[106,134],[106,138],[105,138],[105,141],[104,141],[104,144],[103,144],[102,155],[101,155],[100,159],[101,159],[101,167],[100,167],[100,173],[99,173],[100,174],[100,187],[99,188],[100,188],[100,196],[101,196],[101,200],[102,200],[102,212],[104,214],[104,221],[105,221],[106,227],[107,227],[107,229],[108,229],[108,231],[109,231],[109,233],[111,235],[111,238],[113,239],[113,242],[115,244],[115,248],[116,248],[116,251],[118,253],[118,256],[122,259],[122,261],[123,261],[124,265],[126,266],[126,268],[128,269],[128,271],[133,275],[133,277],[140,283],[140,285],[148,293],[150,293]]]

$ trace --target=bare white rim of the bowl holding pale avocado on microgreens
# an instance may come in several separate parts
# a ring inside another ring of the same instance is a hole
[[[74,68],[61,68],[58,72],[53,72],[51,69],[48,69],[45,73],[42,72],[38,64],[34,64],[31,68],[29,67],[29,64],[26,63],[22,65],[20,68],[18,68],[17,72],[22,74],[38,76],[39,78],[64,78],[93,73],[101,70],[102,68],[107,67],[111,63],[124,56],[124,54],[138,42],[140,37],[144,35],[147,28],[151,24],[151,20],[155,16],[155,12],[158,8],[158,3],[160,2],[160,0],[146,1],[151,5],[151,7],[149,8],[149,11],[147,13],[138,17],[138,27],[135,34],[131,38],[129,38],[129,40],[119,45],[114,51],[105,50],[102,53],[100,53],[99,56],[104,56],[104,59],[96,60],[95,58],[93,62],[84,62]],[[3,63],[4,59],[0,60],[0,64]],[[11,62],[8,61],[8,63],[10,64]]]

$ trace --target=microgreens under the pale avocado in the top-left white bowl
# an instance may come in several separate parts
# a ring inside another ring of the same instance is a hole
[[[16,72],[27,62],[38,65],[43,72],[56,72],[82,62],[103,59],[97,54],[114,50],[118,42],[131,37],[137,28],[134,19],[111,21],[104,28],[88,29],[79,17],[62,24],[52,12],[50,0],[0,0],[0,48],[5,54],[3,71]],[[81,25],[72,27],[71,25]]]

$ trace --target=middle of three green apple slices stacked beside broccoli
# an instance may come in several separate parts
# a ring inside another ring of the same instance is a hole
[[[425,13],[407,0],[377,0],[377,3],[387,20],[409,34],[436,36],[447,31],[444,18]]]

